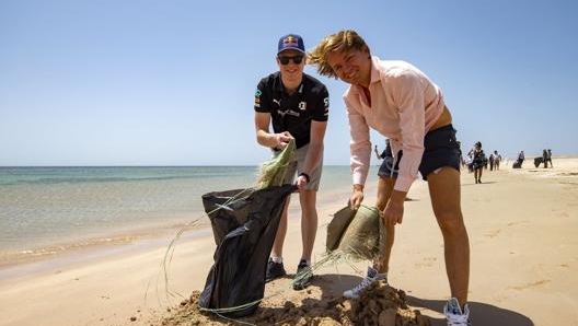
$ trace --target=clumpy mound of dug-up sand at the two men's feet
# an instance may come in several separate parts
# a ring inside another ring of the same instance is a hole
[[[181,302],[170,313],[150,325],[315,325],[315,326],[429,326],[431,323],[417,310],[407,306],[405,292],[384,281],[373,283],[358,299],[324,295],[321,287],[331,284],[324,276],[304,291],[284,291],[265,298],[257,311],[247,317],[230,321],[216,314],[199,311],[199,292]]]

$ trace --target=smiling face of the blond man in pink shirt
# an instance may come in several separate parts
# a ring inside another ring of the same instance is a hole
[[[337,78],[344,82],[365,88],[369,86],[371,58],[367,47],[332,51],[327,54],[327,63]]]

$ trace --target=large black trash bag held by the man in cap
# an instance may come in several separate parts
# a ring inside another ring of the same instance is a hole
[[[265,293],[267,261],[282,208],[294,190],[294,185],[284,185],[203,195],[217,249],[200,293],[200,307],[242,306],[220,313],[233,318],[255,312]],[[245,193],[239,196],[241,191]]]

